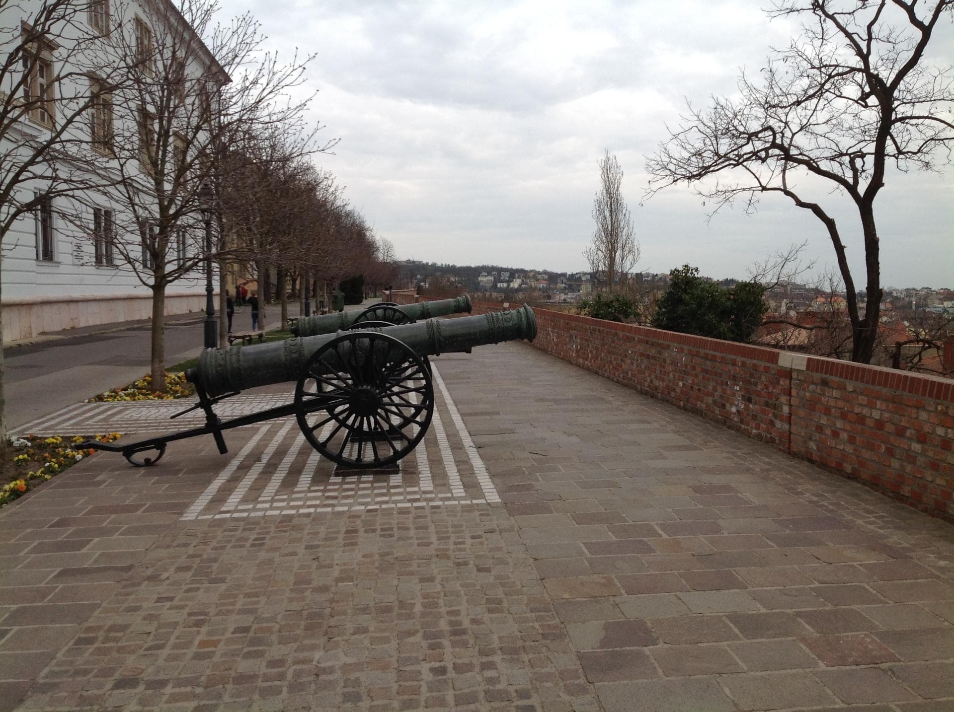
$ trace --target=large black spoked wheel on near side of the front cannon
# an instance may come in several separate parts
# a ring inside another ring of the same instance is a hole
[[[425,436],[434,388],[425,359],[380,332],[356,331],[323,344],[295,387],[305,439],[344,467],[394,464]]]

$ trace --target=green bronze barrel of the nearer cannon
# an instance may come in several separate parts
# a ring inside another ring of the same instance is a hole
[[[427,319],[368,331],[394,336],[418,356],[437,356],[446,352],[469,351],[475,346],[501,341],[522,338],[532,341],[536,336],[536,317],[533,310],[524,305],[508,312],[455,319]],[[186,372],[186,379],[199,384],[212,397],[297,381],[305,374],[309,358],[337,336],[340,335],[300,336],[231,349],[205,349],[198,358],[197,368]],[[342,348],[351,347],[345,344]],[[346,368],[346,362],[354,360],[349,352],[329,358],[331,360],[327,365],[334,369]]]

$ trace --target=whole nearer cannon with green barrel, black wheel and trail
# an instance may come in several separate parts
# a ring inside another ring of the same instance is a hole
[[[186,372],[198,402],[173,416],[201,410],[204,426],[125,444],[88,441],[79,447],[121,453],[131,464],[147,466],[175,440],[211,435],[224,454],[223,431],[294,416],[302,435],[323,457],[347,468],[385,467],[411,453],[430,425],[434,388],[427,356],[469,353],[477,346],[536,336],[536,318],[526,305],[454,319],[381,323],[359,322],[347,332],[243,348],[205,349],[197,368]],[[284,382],[295,383],[290,403],[228,420],[215,413],[214,406],[225,398]]]

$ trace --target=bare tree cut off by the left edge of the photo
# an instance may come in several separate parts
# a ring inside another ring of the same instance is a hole
[[[90,129],[126,69],[101,51],[119,28],[105,0],[0,0],[0,260],[24,219],[41,226],[37,259],[52,259],[54,200],[102,187]],[[5,409],[0,311],[0,469],[10,464]]]

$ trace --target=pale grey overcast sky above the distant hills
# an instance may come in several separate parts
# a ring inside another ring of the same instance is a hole
[[[795,28],[762,4],[225,0],[224,10],[252,10],[270,47],[317,53],[314,115],[341,143],[316,162],[399,257],[586,269],[609,149],[625,171],[637,269],[689,262],[744,277],[804,240],[807,257],[831,266],[831,243],[781,197],[708,224],[688,189],[643,202],[644,163],[686,99],[735,92],[740,68],[758,71],[770,45],[788,43]],[[938,61],[954,62],[949,25],[932,41]],[[884,284],[954,287],[952,185],[950,168],[890,177],[877,206]],[[857,220],[835,212],[861,287]]]

